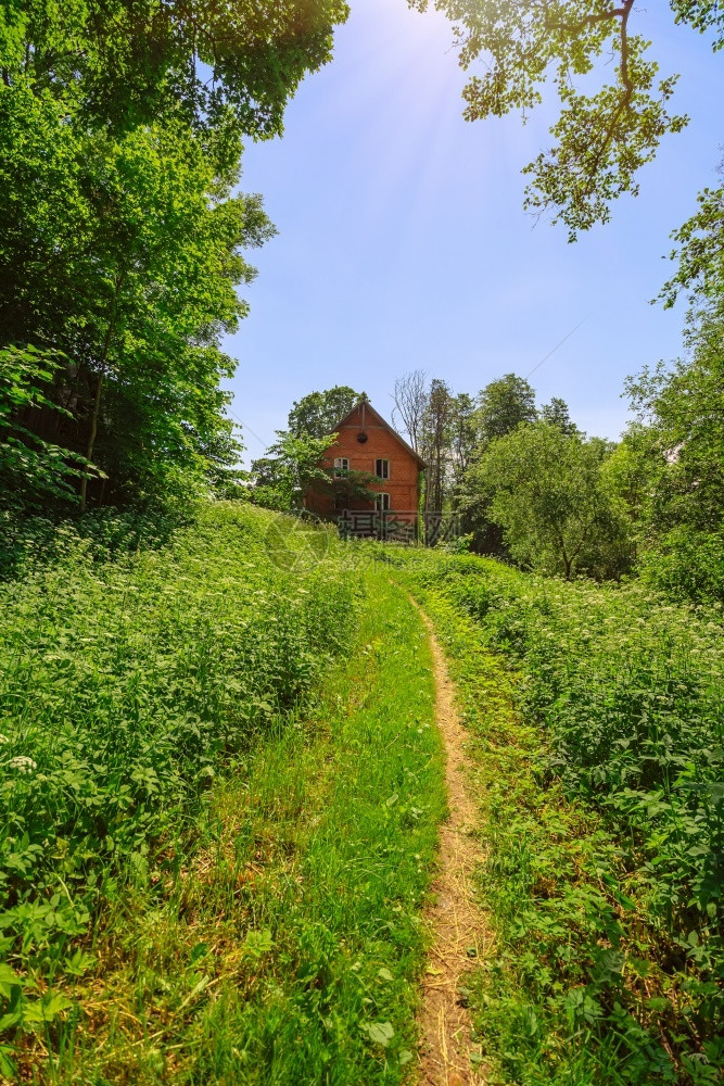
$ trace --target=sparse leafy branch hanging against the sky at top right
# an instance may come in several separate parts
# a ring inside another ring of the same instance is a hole
[[[424,10],[432,0],[408,2]],[[525,119],[544,93],[557,94],[555,143],[524,169],[532,178],[525,206],[552,210],[570,240],[608,222],[611,202],[623,192],[637,194],[640,167],[666,132],[687,123],[669,112],[676,76],[658,78],[650,43],[635,28],[634,0],[434,0],[434,7],[454,23],[461,67],[477,70],[463,90],[466,119],[512,110]],[[724,45],[716,0],[670,0],[669,7],[676,23],[709,34],[714,49]]]

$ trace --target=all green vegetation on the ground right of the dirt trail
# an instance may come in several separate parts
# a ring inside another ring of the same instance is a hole
[[[473,1005],[498,1081],[720,1081],[719,611],[385,557],[435,620],[477,736],[497,952]]]

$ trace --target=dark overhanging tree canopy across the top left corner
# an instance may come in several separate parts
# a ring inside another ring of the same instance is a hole
[[[63,100],[93,127],[173,115],[221,137],[268,137],[306,73],[330,59],[346,16],[342,0],[5,2],[2,81]]]

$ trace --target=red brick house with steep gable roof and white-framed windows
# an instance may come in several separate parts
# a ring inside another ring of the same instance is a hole
[[[366,400],[360,400],[340,419],[333,432],[339,435],[336,444],[330,445],[321,462],[333,480],[332,485],[310,489],[305,501],[307,509],[329,518],[342,519],[346,515],[348,520],[361,523],[363,531],[365,514],[370,522],[374,515],[383,515],[383,519],[399,519],[416,526],[420,476],[425,467],[422,457]],[[350,496],[345,479],[350,478],[348,472],[357,471],[366,475],[366,487],[377,493],[373,501]]]

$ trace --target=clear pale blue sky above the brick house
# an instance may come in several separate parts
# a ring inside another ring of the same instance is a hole
[[[571,245],[522,210],[521,167],[547,147],[554,113],[462,121],[465,75],[449,24],[405,0],[352,0],[334,60],[291,102],[283,138],[253,144],[242,188],[261,192],[279,236],[252,254],[251,314],[226,349],[239,359],[231,411],[247,457],[294,400],[351,384],[390,416],[396,376],[422,368],[477,393],[515,371],[545,402],[568,401],[589,433],[615,438],[624,377],[681,351],[684,304],[651,306],[669,235],[716,181],[722,54],[677,27],[664,0],[636,17],[691,117],[622,198],[613,222]]]

